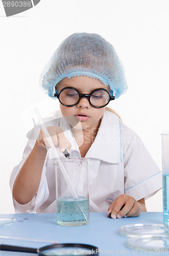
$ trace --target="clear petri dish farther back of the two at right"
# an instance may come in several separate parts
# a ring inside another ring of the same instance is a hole
[[[143,234],[166,234],[169,228],[164,224],[131,224],[120,227],[118,232],[122,236],[137,237]]]

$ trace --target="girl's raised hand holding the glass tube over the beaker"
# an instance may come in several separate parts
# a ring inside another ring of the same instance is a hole
[[[63,130],[60,126],[48,126],[46,127],[47,131],[49,132],[51,139],[55,146],[59,145],[60,152],[65,151],[65,146],[69,149],[71,148],[71,143],[66,139],[64,136]],[[40,148],[46,149],[50,147],[47,138],[45,137],[43,130],[40,130],[39,136],[37,138],[37,142]]]

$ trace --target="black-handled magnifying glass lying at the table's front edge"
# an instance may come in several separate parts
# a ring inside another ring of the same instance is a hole
[[[44,247],[29,248],[11,245],[0,245],[0,250],[2,251],[19,251],[19,252],[29,252],[38,253],[39,256],[84,256],[84,255],[99,255],[99,248],[88,245],[88,244],[52,244]]]

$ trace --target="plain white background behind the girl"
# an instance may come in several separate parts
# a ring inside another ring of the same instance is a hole
[[[39,89],[39,75],[74,32],[99,33],[114,46],[129,90],[109,106],[141,137],[161,169],[160,133],[169,130],[168,8],[168,0],[41,0],[6,17],[0,3],[1,214],[14,212],[9,178],[27,142],[25,110],[40,101],[43,108],[58,108]],[[161,191],[147,200],[147,208],[162,211]]]

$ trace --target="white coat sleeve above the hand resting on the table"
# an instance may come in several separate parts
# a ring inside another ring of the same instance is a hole
[[[162,187],[162,175],[137,134],[124,155],[125,194],[137,201],[153,196]]]

